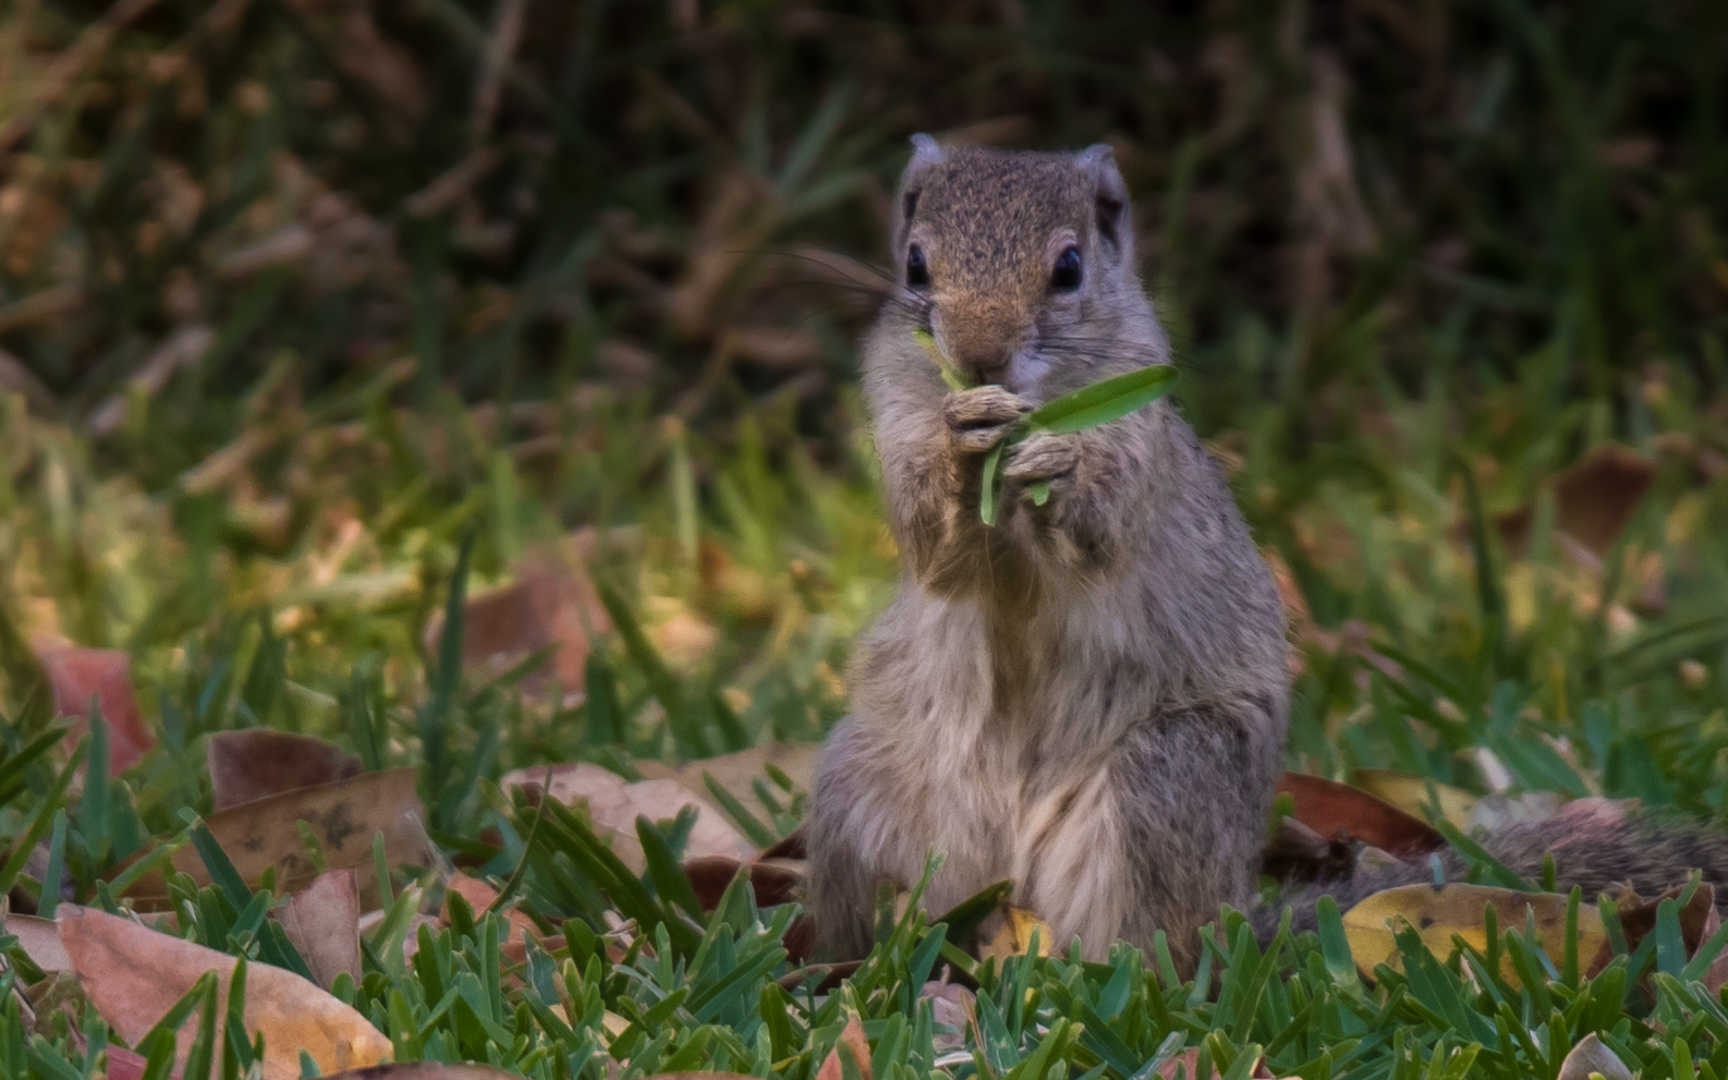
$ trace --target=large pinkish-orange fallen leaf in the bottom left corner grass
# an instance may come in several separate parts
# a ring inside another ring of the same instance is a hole
[[[228,995],[235,957],[102,911],[67,907],[60,942],[90,1004],[126,1042],[138,1042],[200,975],[221,975]],[[377,1064],[391,1040],[365,1016],[292,971],[247,966],[244,1023],[264,1033],[264,1080],[297,1080],[301,1051],[325,1071]],[[180,1061],[195,1025],[180,1028]]]

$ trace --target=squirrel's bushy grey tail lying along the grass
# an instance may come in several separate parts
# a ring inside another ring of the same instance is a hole
[[[1657,897],[1702,871],[1704,881],[1716,888],[1718,909],[1728,914],[1728,833],[1635,805],[1579,798],[1547,821],[1505,826],[1481,843],[1526,881],[1540,881],[1552,855],[1560,892],[1579,886],[1585,902],[1626,886],[1645,899]],[[1464,880],[1469,866],[1458,852],[1448,848],[1436,857],[1441,881]],[[1289,885],[1255,909],[1255,931],[1261,943],[1270,942],[1286,909],[1294,933],[1313,930],[1320,897],[1332,897],[1339,911],[1350,911],[1381,890],[1434,881],[1433,862],[1422,861],[1358,866],[1341,878]]]

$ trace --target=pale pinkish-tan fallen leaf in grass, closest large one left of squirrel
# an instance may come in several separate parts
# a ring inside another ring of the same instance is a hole
[[[641,842],[636,838],[636,817],[667,821],[684,807],[696,807],[696,824],[689,829],[684,854],[729,855],[750,859],[755,847],[733,828],[705,798],[674,779],[641,779],[627,783],[617,772],[589,762],[563,766],[534,766],[506,772],[499,781],[503,790],[539,788],[565,805],[582,804],[594,828],[612,835],[612,850],[634,873],[646,869]]]

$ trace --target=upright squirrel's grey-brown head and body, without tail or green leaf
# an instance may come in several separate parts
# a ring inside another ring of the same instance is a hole
[[[1108,147],[918,137],[899,211],[864,385],[905,572],[817,781],[817,933],[867,952],[876,885],[935,850],[930,911],[1013,880],[1058,947],[1163,930],[1192,962],[1196,928],[1253,897],[1289,698],[1277,588],[1166,401],[1009,446],[1001,517],[978,515],[1021,413],[1168,363],[1125,185]],[[919,330],[978,385],[950,392]]]

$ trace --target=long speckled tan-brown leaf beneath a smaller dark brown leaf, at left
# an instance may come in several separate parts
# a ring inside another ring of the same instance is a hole
[[[292,893],[318,876],[295,826],[304,821],[318,838],[330,869],[358,871],[361,904],[370,907],[378,895],[372,866],[375,833],[384,833],[384,854],[391,866],[423,864],[432,850],[415,793],[416,776],[416,769],[391,769],[334,785],[297,788],[219,810],[206,824],[249,885],[256,885],[273,866],[276,892]],[[175,869],[192,874],[199,885],[211,883],[209,871],[192,845],[175,852]],[[168,900],[168,886],[161,873],[149,873],[128,895],[140,909],[159,909]]]

